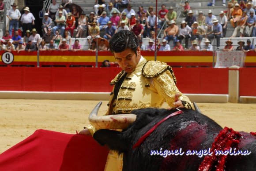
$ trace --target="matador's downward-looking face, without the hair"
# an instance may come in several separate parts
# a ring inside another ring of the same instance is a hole
[[[114,52],[114,56],[118,65],[126,73],[132,73],[136,69],[136,66],[139,63],[139,59],[141,58],[139,47],[137,48],[137,54],[131,49],[126,49],[119,53]]]

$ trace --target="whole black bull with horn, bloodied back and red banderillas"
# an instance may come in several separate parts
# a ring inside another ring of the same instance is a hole
[[[214,120],[191,109],[182,109],[182,114],[158,124],[177,110],[147,108],[127,115],[97,116],[100,105],[89,116],[90,123],[99,128],[93,137],[100,145],[123,153],[123,171],[256,171],[255,135],[223,131]],[[230,153],[217,155],[216,149]],[[165,150],[169,155],[164,155]]]

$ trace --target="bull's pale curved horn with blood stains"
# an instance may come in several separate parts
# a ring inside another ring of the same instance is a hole
[[[97,129],[125,129],[136,120],[134,114],[97,116],[101,105],[99,102],[89,115],[90,124]]]

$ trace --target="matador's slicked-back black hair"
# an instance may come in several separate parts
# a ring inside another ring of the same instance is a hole
[[[139,47],[139,41],[136,35],[129,30],[121,30],[114,34],[109,40],[109,50],[114,52],[122,52],[126,49],[131,49],[137,54],[137,48]]]

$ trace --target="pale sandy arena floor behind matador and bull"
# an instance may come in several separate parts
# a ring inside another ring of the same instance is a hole
[[[0,153],[37,129],[75,133],[88,124],[88,113],[98,101],[0,99]],[[107,110],[103,102],[100,114]],[[222,127],[256,131],[256,104],[198,103],[202,113]],[[167,107],[164,104],[163,107]]]

